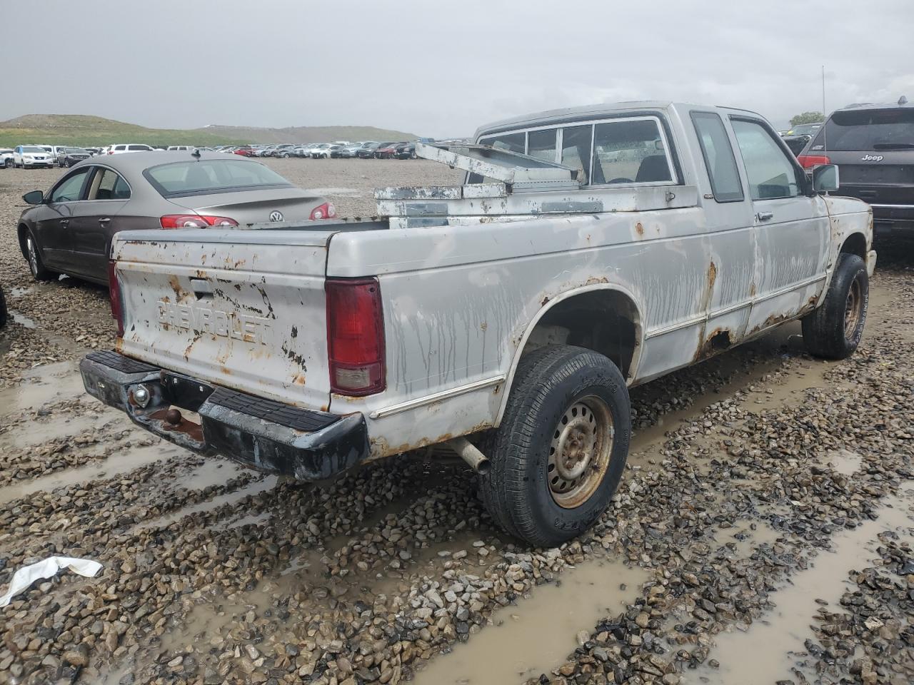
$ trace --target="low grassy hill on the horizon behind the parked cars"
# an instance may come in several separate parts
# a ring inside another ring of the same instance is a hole
[[[242,142],[328,142],[410,140],[410,133],[371,126],[300,126],[284,129],[207,126],[202,129],[147,129],[124,121],[84,114],[27,114],[0,121],[0,147],[27,142],[71,145],[227,145]]]

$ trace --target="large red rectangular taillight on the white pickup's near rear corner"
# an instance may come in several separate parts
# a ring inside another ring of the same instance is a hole
[[[330,389],[372,395],[387,387],[384,312],[377,279],[327,279]]]

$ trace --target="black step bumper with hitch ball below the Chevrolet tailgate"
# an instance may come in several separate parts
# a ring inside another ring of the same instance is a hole
[[[283,405],[116,352],[86,355],[80,373],[90,395],[120,409],[138,426],[197,454],[221,454],[251,469],[300,480],[330,478],[368,455],[368,432],[361,414],[339,416]],[[150,394],[145,407],[133,398],[141,384]],[[165,415],[172,406],[197,412],[200,423],[184,417],[170,423]]]

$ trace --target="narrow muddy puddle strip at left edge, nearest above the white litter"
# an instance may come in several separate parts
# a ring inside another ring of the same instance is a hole
[[[39,490],[50,492],[71,485],[84,485],[92,480],[108,479],[121,473],[129,473],[133,469],[139,469],[146,464],[152,464],[154,461],[176,457],[182,452],[190,454],[186,450],[172,446],[169,443],[148,445],[140,448],[124,448],[107,459],[100,459],[98,463],[74,469],[65,469],[57,473],[48,474],[48,476],[23,480],[0,487],[0,504],[18,500]]]

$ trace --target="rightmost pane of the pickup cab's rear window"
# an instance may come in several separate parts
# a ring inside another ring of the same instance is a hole
[[[606,121],[594,127],[591,184],[672,181],[666,145],[654,118]]]

